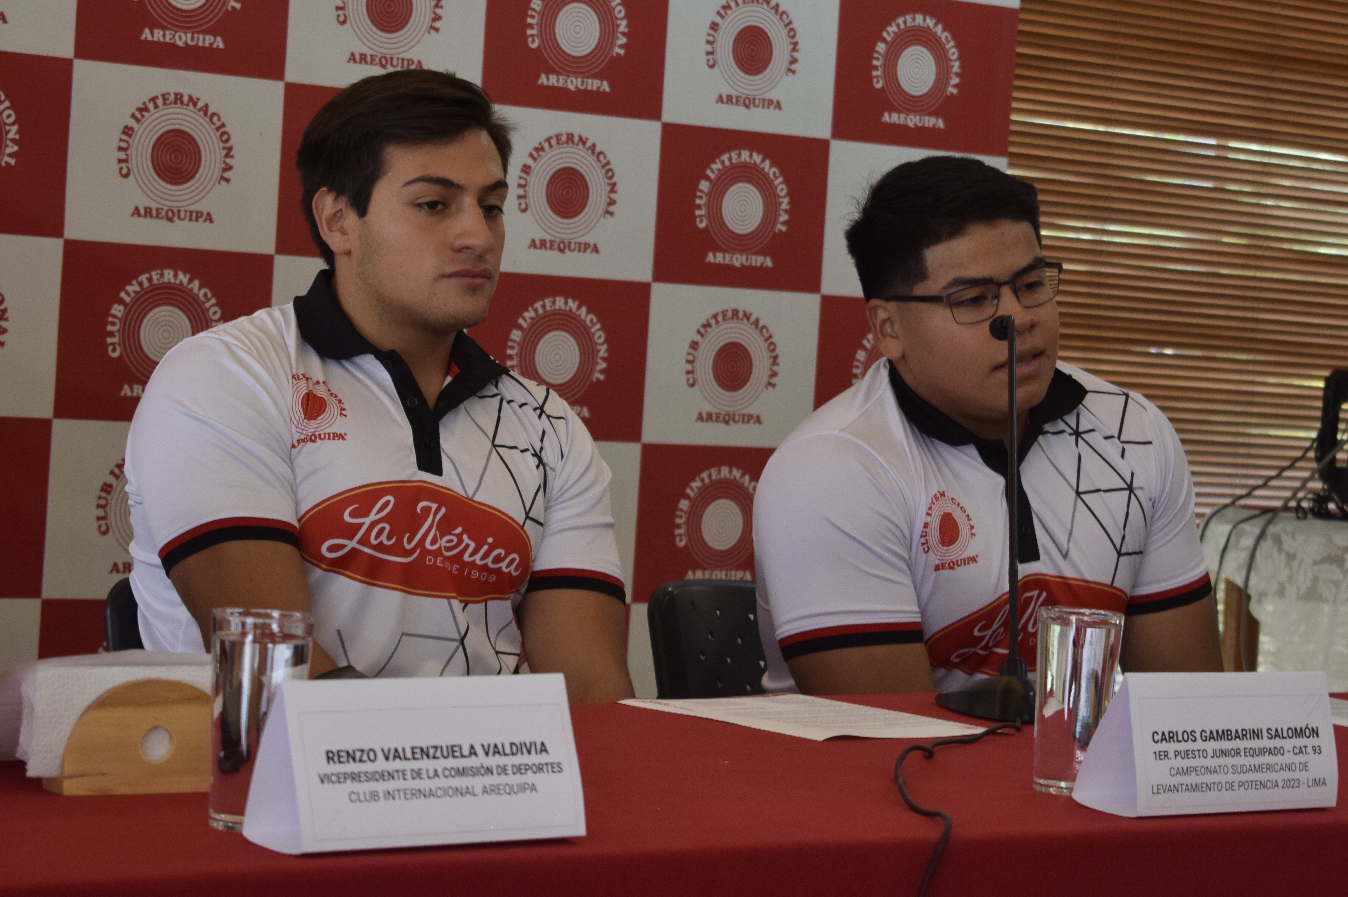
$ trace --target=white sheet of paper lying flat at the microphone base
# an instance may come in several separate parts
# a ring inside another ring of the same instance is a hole
[[[809,695],[755,695],[745,698],[694,698],[651,700],[630,698],[632,707],[701,717],[782,735],[824,741],[838,735],[857,738],[950,738],[983,731],[981,726],[880,710]]]

